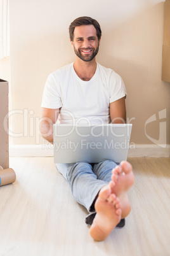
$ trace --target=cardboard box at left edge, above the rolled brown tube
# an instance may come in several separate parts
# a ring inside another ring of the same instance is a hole
[[[9,168],[8,92],[8,82],[0,79],[0,166],[3,169]]]

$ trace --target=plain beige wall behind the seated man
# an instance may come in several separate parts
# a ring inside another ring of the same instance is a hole
[[[170,83],[161,80],[164,1],[158,0],[10,1],[13,143],[41,143],[44,83],[49,73],[74,61],[68,27],[82,15],[96,18],[101,25],[97,61],[114,69],[126,84],[131,142],[154,144],[160,138],[159,143],[165,144],[159,131],[163,110],[160,117],[166,122],[169,144]]]

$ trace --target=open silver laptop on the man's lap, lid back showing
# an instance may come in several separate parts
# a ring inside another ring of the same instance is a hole
[[[132,124],[54,124],[55,163],[127,159]]]

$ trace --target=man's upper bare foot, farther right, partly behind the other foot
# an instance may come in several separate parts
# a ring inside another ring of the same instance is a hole
[[[131,205],[128,199],[128,190],[134,183],[134,175],[131,164],[126,161],[122,161],[120,166],[116,166],[112,170],[112,181],[110,182],[110,188],[112,193],[119,197],[121,204],[122,216],[125,218],[131,211]]]

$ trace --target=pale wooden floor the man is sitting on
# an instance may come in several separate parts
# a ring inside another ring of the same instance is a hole
[[[70,194],[52,157],[11,158],[17,180],[0,187],[2,256],[169,256],[170,159],[130,158],[132,211],[103,242],[89,236],[86,210]]]

